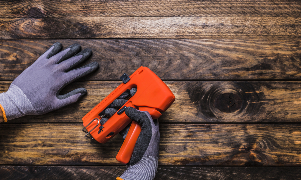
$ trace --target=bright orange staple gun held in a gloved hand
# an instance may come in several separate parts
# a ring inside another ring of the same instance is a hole
[[[85,126],[82,131],[86,133],[85,137],[95,139],[99,143],[106,143],[132,122],[126,139],[116,156],[117,161],[126,164],[132,157],[141,131],[141,126],[126,116],[126,107],[147,111],[153,119],[157,119],[175,101],[175,96],[168,86],[147,67],[139,67],[131,76],[124,73],[120,79],[123,83],[82,118]],[[127,98],[129,100],[123,107],[101,126],[100,119],[105,117],[104,111],[123,92],[129,91],[131,88],[137,88],[135,95]],[[88,137],[88,134],[91,134],[92,138]]]

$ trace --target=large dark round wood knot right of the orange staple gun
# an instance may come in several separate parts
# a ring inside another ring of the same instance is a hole
[[[186,85],[200,118],[208,122],[247,122],[258,115],[259,96],[250,82],[190,82]]]

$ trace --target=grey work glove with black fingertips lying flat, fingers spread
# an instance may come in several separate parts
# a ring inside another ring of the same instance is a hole
[[[92,54],[91,49],[79,52],[79,44],[61,49],[61,43],[54,43],[11,83],[8,91],[0,94],[5,122],[29,114],[48,113],[75,103],[87,93],[85,88],[78,88],[60,95],[66,85],[98,68],[98,63],[92,62],[70,70],[87,59]]]

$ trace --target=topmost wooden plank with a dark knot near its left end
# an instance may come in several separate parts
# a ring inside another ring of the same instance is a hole
[[[59,4],[59,6],[58,6]],[[9,1],[0,4],[0,17],[112,16],[300,16],[296,1]]]

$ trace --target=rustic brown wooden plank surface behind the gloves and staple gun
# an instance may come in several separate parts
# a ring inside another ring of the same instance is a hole
[[[122,138],[81,118],[140,66],[176,96],[156,180],[301,179],[300,1],[2,0],[0,38],[0,92],[57,41],[100,65],[64,89],[87,88],[78,103],[0,124],[0,179],[120,176]]]

